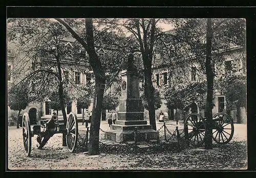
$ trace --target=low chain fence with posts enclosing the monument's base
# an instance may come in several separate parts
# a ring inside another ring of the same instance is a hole
[[[90,130],[88,129],[88,136],[85,135],[85,138],[82,138],[80,134],[78,134],[78,143],[80,147],[87,147]],[[107,138],[105,135],[105,131],[101,128],[99,129],[99,149],[102,153],[109,153],[109,154],[119,154],[122,153],[136,153],[140,149],[147,149],[147,151],[165,151],[165,150],[172,150],[172,151],[179,151],[183,148],[185,139],[184,137],[184,129],[176,129],[172,132],[170,131],[166,124],[164,123],[158,130],[159,138],[156,139],[157,141],[152,141],[150,133],[143,133],[137,128],[135,128],[131,132],[131,140],[126,142],[115,142],[112,141],[111,138]],[[122,131],[120,131],[122,132]],[[119,133],[121,134],[121,133]],[[80,141],[79,141],[80,140]],[[145,150],[143,150],[145,151]]]

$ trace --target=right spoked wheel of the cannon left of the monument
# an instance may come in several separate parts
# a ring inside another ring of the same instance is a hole
[[[78,139],[78,123],[77,117],[74,113],[70,113],[66,124],[66,143],[69,152],[73,152],[77,145]]]

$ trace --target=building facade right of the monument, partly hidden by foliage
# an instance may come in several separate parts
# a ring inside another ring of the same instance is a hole
[[[244,56],[244,51],[241,47],[235,46],[228,50],[223,50],[222,55],[225,60],[215,63],[215,86],[218,86],[218,82],[221,78],[237,74],[246,77],[246,60]],[[173,66],[173,67],[170,67]],[[236,69],[236,70],[234,70]],[[186,87],[189,84],[195,82],[204,82],[206,81],[206,75],[204,74],[201,66],[197,62],[186,62],[182,65],[173,64],[164,64],[154,68],[153,71],[153,84],[156,90],[159,90],[160,93],[163,93],[166,90],[166,87]],[[213,98],[214,108],[212,109],[212,114],[215,115],[219,112],[226,112],[226,98],[223,92],[218,88],[214,87],[214,98]],[[199,113],[202,117],[205,117],[205,108],[200,107],[197,104],[197,100],[194,100],[193,107],[189,109],[188,112],[185,112],[181,109],[167,108],[166,100],[163,99],[162,106],[156,111],[156,117],[159,117],[160,111],[168,112],[169,119],[184,119],[189,113],[196,112]],[[242,123],[246,123],[247,114],[245,108],[240,108],[240,117]],[[230,116],[232,117],[234,123],[237,123],[237,108],[233,108],[230,111]]]

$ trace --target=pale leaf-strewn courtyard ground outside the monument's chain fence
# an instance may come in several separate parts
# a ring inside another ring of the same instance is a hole
[[[162,124],[157,124],[159,129]],[[172,125],[168,125],[172,130]],[[101,129],[108,125],[103,122]],[[79,129],[85,130],[79,123]],[[22,129],[8,127],[8,168],[11,170],[61,170],[61,169],[154,169],[154,170],[202,170],[202,169],[247,169],[246,124],[234,124],[233,139],[227,145],[214,144],[214,149],[189,148],[181,151],[152,152],[145,150],[137,154],[100,154],[88,156],[84,152],[70,153],[62,147],[62,134],[54,135],[45,145],[37,149],[36,137],[32,137],[31,156],[25,155]],[[110,151],[111,152],[111,151]]]

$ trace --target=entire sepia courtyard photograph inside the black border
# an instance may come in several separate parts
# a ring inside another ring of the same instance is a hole
[[[8,170],[246,170],[245,18],[8,18]]]

